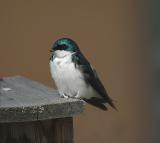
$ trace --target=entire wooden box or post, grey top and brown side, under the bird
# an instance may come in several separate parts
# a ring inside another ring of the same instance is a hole
[[[0,80],[0,143],[73,143],[79,100],[24,77]]]

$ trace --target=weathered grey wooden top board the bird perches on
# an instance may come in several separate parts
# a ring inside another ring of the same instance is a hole
[[[56,90],[30,79],[0,80],[0,123],[71,117],[82,110],[82,101],[60,98]]]

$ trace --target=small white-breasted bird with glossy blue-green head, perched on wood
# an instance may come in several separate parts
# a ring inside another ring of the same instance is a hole
[[[75,41],[60,38],[53,43],[50,52],[50,72],[60,97],[80,99],[104,111],[109,104],[117,110]]]

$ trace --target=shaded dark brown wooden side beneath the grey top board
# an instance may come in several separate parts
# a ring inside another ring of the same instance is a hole
[[[36,122],[0,123],[1,143],[73,143],[72,117]]]

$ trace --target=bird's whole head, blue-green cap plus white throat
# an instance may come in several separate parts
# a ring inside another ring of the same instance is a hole
[[[65,56],[79,51],[78,45],[69,38],[58,39],[52,46],[50,52],[57,56]]]

